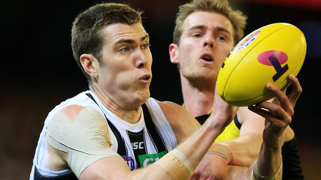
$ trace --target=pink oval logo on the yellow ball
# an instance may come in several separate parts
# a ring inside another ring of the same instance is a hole
[[[264,65],[272,66],[273,64],[271,60],[269,60],[272,55],[275,56],[280,64],[284,64],[287,61],[287,55],[284,52],[278,50],[265,51],[257,56],[257,60]]]

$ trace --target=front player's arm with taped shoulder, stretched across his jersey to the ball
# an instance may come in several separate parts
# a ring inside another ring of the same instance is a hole
[[[50,120],[52,124],[48,125],[47,141],[49,140],[48,143],[54,149],[65,154],[56,153],[55,155],[67,163],[80,180],[189,179],[211,146],[212,140],[229,123],[229,120],[223,120],[221,119],[223,116],[217,114],[213,116],[213,119],[217,119],[219,123],[209,120],[175,150],[167,153],[156,163],[147,168],[130,171],[123,159],[110,149],[108,129],[100,130],[104,127],[101,123],[106,123],[106,120],[98,112],[96,114],[83,112],[86,109],[84,107],[78,112],[71,113],[71,116],[68,115],[69,112],[73,112],[73,108],[69,106],[60,111],[60,119],[64,118],[64,120]],[[162,107],[165,116],[172,113],[172,108],[171,106]],[[177,112],[180,110],[178,109]],[[181,119],[188,119],[189,116],[188,113],[180,114]],[[74,122],[80,122],[80,124],[76,123],[75,126]],[[107,127],[107,124],[105,126]],[[59,132],[63,132],[64,138],[59,138],[61,135]],[[108,154],[105,154],[106,151]]]

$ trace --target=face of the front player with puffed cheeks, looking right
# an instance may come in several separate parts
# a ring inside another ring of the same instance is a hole
[[[146,102],[152,79],[148,34],[139,23],[109,25],[104,33],[98,84],[115,101]]]

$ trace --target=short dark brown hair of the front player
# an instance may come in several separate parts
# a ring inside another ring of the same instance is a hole
[[[126,4],[101,3],[91,6],[80,13],[73,23],[73,54],[88,83],[91,83],[91,78],[84,71],[80,63],[80,56],[82,54],[92,54],[102,64],[102,47],[106,35],[108,35],[103,33],[103,28],[115,23],[128,25],[142,23],[141,12]]]

